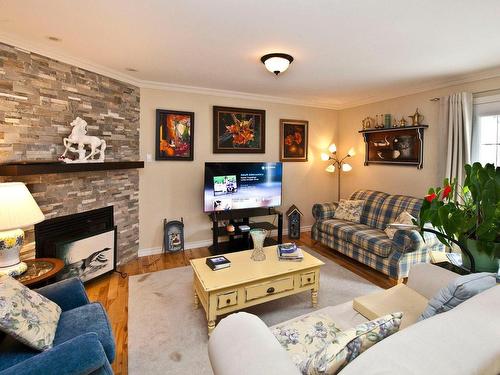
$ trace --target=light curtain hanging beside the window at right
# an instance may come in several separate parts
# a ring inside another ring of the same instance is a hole
[[[445,177],[455,178],[461,185],[465,179],[464,165],[471,162],[472,94],[460,92],[441,98],[440,125],[448,129]]]

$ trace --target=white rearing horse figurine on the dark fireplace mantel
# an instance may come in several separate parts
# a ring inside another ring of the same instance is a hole
[[[71,123],[73,130],[69,137],[63,139],[64,153],[60,159],[66,163],[85,163],[85,162],[104,162],[104,151],[106,150],[106,141],[98,137],[87,135],[87,121],[77,117]],[[74,148],[73,145],[78,145]],[[90,146],[90,153],[86,154],[85,146]],[[66,157],[68,151],[78,153],[78,160],[71,160]],[[99,155],[99,159],[94,159],[94,156]]]

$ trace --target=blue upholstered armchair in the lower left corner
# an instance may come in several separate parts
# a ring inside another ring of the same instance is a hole
[[[108,316],[100,303],[89,301],[81,281],[68,279],[36,291],[62,309],[54,345],[38,352],[0,336],[0,375],[113,374],[115,342]]]

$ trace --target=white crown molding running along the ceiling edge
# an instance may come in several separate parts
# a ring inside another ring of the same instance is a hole
[[[271,103],[297,105],[297,106],[312,107],[312,108],[331,109],[331,110],[349,109],[366,104],[381,102],[384,100],[390,100],[403,96],[419,94],[426,91],[466,84],[474,81],[480,81],[483,79],[500,77],[500,67],[496,67],[493,69],[485,69],[479,72],[459,75],[451,78],[437,79],[426,82],[421,85],[412,85],[402,89],[388,90],[386,94],[371,95],[358,100],[346,101],[343,103],[328,103],[328,102],[308,101],[308,100],[300,100],[300,99],[271,96],[271,95],[254,94],[254,93],[233,91],[233,90],[212,89],[208,87],[197,87],[197,86],[172,84],[167,82],[141,80],[129,74],[122,73],[116,69],[111,69],[106,66],[96,64],[87,59],[61,53],[60,51],[57,51],[57,49],[51,48],[42,43],[28,41],[24,38],[9,33],[0,32],[0,42],[11,45],[17,49],[24,50],[26,52],[33,52],[42,56],[47,56],[54,60],[71,64],[79,68],[104,75],[109,78],[113,78],[122,82],[129,83],[131,85],[138,86],[140,88],[185,92],[185,93],[193,93],[201,95],[213,95],[221,97],[239,98],[245,100],[256,100],[256,101],[264,101]]]

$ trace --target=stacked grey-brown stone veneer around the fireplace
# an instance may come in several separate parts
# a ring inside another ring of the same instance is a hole
[[[77,116],[106,140],[107,161],[138,160],[139,104],[136,86],[0,43],[0,163],[57,159]],[[25,182],[47,218],[113,205],[118,262],[137,256],[137,170],[0,177],[7,181]]]

